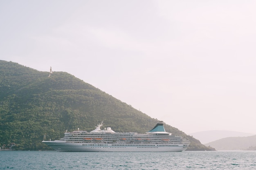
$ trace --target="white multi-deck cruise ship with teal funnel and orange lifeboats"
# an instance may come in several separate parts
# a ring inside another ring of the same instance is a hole
[[[171,135],[161,121],[145,134],[115,132],[110,127],[101,130],[103,122],[91,132],[65,132],[63,138],[42,142],[58,152],[182,152],[190,141]]]

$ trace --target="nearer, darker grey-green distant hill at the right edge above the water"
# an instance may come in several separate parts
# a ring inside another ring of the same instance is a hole
[[[248,137],[226,137],[205,144],[216,150],[256,150],[256,135]]]

